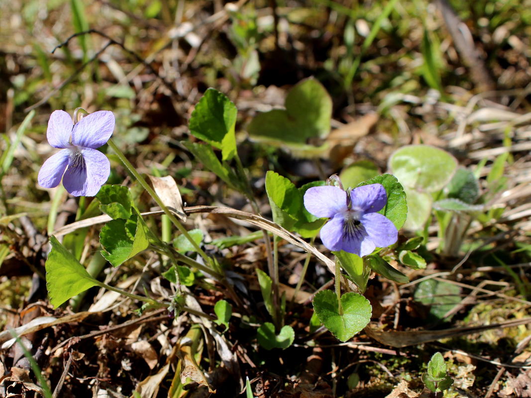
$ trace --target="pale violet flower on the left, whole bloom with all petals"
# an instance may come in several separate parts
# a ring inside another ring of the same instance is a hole
[[[39,185],[55,188],[61,182],[74,196],[94,196],[105,184],[110,174],[106,155],[97,151],[113,134],[114,115],[109,110],[99,110],[73,124],[63,110],[50,116],[46,137],[54,148],[62,148],[48,158],[39,171]]]

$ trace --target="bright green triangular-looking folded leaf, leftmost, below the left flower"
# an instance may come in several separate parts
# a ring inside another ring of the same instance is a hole
[[[46,288],[55,308],[68,299],[98,285],[81,263],[63,245],[50,236],[52,250],[46,260]]]

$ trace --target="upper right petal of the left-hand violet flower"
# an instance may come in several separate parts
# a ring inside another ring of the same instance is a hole
[[[72,143],[81,148],[99,148],[109,141],[114,130],[114,115],[110,110],[98,110],[84,116],[75,124]]]

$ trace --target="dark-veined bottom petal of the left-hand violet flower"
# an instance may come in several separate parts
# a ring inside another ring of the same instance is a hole
[[[109,178],[109,159],[100,151],[90,148],[81,150],[80,156],[77,164],[75,158],[71,158],[63,185],[74,196],[94,196]]]

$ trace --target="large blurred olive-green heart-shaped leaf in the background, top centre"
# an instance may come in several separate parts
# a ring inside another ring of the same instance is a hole
[[[289,91],[286,109],[273,109],[253,118],[247,131],[253,139],[306,144],[330,133],[332,99],[319,81],[306,79]]]

